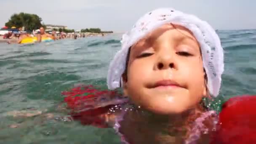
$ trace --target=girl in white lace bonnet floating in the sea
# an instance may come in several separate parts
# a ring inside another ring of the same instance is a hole
[[[208,143],[217,117],[202,99],[218,96],[224,70],[215,30],[196,16],[160,8],[142,16],[121,42],[107,85],[123,88],[130,101],[99,117],[126,144]]]

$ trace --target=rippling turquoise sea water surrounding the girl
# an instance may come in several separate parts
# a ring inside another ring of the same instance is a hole
[[[225,49],[221,101],[256,94],[256,30],[219,31]],[[66,121],[61,91],[75,84],[106,86],[109,61],[120,48],[119,34],[37,45],[0,43],[0,144],[119,143],[114,130]],[[216,107],[217,109],[217,107]],[[42,112],[13,117],[13,111]],[[47,113],[53,118],[47,119]],[[10,125],[19,124],[18,128]]]

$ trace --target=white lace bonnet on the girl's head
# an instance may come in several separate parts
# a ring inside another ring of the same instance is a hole
[[[202,21],[194,15],[176,11],[173,8],[159,8],[146,13],[136,22],[131,31],[123,34],[122,48],[116,53],[109,65],[108,88],[115,89],[123,85],[121,75],[125,71],[129,48],[149,32],[166,23],[181,25],[194,34],[202,51],[203,67],[208,78],[208,90],[211,96],[218,96],[221,75],[224,71],[224,54],[219,36],[206,21]]]

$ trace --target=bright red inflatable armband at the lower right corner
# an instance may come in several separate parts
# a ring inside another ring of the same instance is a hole
[[[222,106],[212,144],[256,144],[256,96],[236,96]]]

